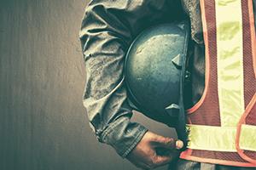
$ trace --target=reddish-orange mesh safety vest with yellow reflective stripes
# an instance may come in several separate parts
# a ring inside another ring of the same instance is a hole
[[[182,159],[256,167],[256,43],[252,0],[201,0],[205,90],[188,110]]]

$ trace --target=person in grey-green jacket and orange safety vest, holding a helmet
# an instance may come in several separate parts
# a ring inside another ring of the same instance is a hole
[[[90,1],[79,37],[84,106],[96,138],[143,169],[256,169],[255,7],[256,0]],[[192,106],[189,145],[180,154],[182,140],[130,121],[124,61],[143,30],[186,19]]]

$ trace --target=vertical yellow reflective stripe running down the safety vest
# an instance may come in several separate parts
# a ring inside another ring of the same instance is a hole
[[[216,0],[218,100],[222,127],[244,112],[241,0]]]

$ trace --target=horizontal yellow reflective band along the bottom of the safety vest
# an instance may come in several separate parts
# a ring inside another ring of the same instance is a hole
[[[236,127],[213,127],[187,125],[189,128],[188,148],[236,152]],[[241,125],[241,150],[256,151],[256,126]]]

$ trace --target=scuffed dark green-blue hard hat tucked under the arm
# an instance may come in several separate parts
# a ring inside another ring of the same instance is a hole
[[[183,82],[189,42],[186,22],[154,26],[132,42],[125,58],[125,82],[131,106],[176,127],[186,140]]]

